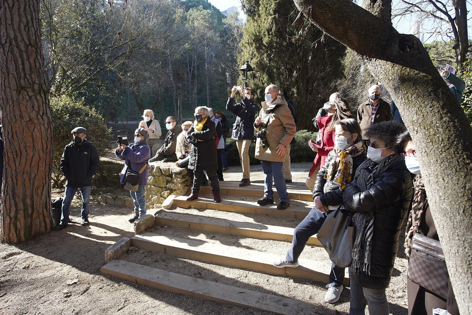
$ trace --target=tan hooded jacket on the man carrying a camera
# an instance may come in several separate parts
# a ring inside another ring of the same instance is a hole
[[[262,102],[262,109],[259,113],[259,117],[261,117],[261,125],[256,126],[254,123],[254,128],[256,128],[257,131],[260,131],[262,126],[265,126],[265,124],[269,121],[269,124],[266,128],[266,137],[269,142],[269,146],[263,148],[261,145],[261,139],[257,138],[255,152],[256,159],[271,162],[285,161],[285,154],[277,154],[277,146],[282,144],[287,147],[295,136],[296,127],[292,113],[288,109],[287,102],[282,100],[282,102],[279,104],[282,106],[279,106],[276,111],[267,115],[266,113],[268,113],[276,105],[271,104],[266,110],[264,110],[266,104],[265,102]]]

